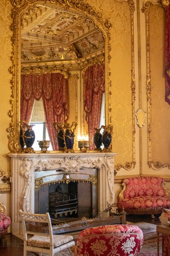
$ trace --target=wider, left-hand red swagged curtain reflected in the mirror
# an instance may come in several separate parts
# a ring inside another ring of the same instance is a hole
[[[67,80],[60,73],[21,76],[20,118],[30,122],[34,99],[42,102],[45,122],[53,150],[57,150],[54,122],[67,122]]]

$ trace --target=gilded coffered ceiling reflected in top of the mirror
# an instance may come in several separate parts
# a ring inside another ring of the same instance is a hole
[[[54,7],[36,6],[22,19],[21,63],[71,61],[104,53],[93,20]]]

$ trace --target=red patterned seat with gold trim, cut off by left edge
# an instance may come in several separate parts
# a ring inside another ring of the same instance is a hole
[[[6,207],[0,202],[0,239],[7,234],[7,229],[11,224],[11,218],[5,212]]]

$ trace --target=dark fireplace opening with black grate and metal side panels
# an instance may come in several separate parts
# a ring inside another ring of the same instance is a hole
[[[54,224],[95,218],[97,186],[91,182],[50,183],[35,190],[35,213],[49,212]]]

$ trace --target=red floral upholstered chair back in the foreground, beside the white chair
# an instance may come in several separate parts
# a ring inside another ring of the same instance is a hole
[[[142,230],[135,225],[92,227],[79,233],[74,256],[137,256],[142,244]]]

